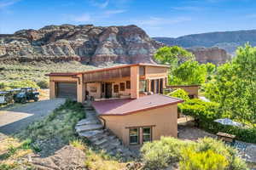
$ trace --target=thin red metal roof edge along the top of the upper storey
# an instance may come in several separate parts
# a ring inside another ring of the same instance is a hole
[[[46,74],[45,76],[49,76],[49,77],[57,77],[57,76],[70,77],[70,76],[75,76],[75,75],[84,74],[84,73],[109,71],[109,70],[125,68],[125,67],[130,67],[130,66],[136,66],[136,65],[156,66],[156,67],[166,67],[166,68],[170,67],[169,65],[154,65],[154,64],[147,64],[147,63],[138,63],[138,64],[131,64],[131,65],[118,65],[118,66],[96,69],[96,70],[91,70],[91,71],[83,71],[83,72],[66,72],[66,73],[64,73],[64,72],[52,72],[52,73]]]

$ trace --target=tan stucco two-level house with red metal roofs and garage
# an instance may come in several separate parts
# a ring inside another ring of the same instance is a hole
[[[124,144],[134,145],[177,137],[177,103],[167,97],[168,66],[151,64],[119,65],[76,73],[50,73],[50,98],[93,99],[104,127]]]

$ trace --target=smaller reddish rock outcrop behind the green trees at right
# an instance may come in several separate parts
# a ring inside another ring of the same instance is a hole
[[[212,63],[222,65],[231,59],[230,54],[222,48],[187,48],[195,54],[195,59],[200,63]]]

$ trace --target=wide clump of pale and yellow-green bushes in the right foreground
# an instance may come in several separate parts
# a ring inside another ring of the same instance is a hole
[[[211,138],[200,139],[195,143],[165,137],[143,144],[141,151],[146,169],[162,169],[177,162],[180,162],[183,170],[247,169],[246,163],[236,156],[236,150]]]

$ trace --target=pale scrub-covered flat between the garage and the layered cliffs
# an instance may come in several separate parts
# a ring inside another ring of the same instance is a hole
[[[0,66],[0,89],[20,88],[32,86],[34,88],[48,88],[49,72],[77,72],[96,69],[95,66],[83,65],[77,61],[29,62],[29,63],[3,63]]]

